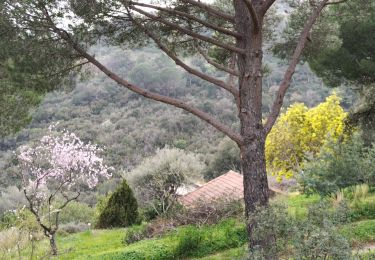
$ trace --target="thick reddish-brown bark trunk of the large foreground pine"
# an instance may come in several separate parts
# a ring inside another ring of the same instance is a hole
[[[252,1],[254,3],[254,1]],[[244,37],[237,40],[237,47],[245,49],[238,54],[240,112],[242,143],[241,163],[244,176],[245,211],[248,217],[257,206],[268,205],[269,189],[265,163],[265,131],[262,124],[262,24],[258,16],[258,30],[243,0],[234,0],[236,30]],[[259,8],[259,6],[254,6]],[[249,247],[269,248],[272,239],[259,239],[253,235],[256,223],[248,221]]]

